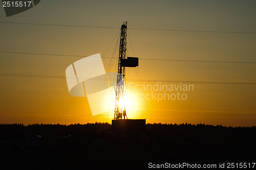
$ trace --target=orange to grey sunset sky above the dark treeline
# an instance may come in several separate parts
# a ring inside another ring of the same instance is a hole
[[[127,21],[131,38],[127,41],[127,50],[129,55],[134,56],[135,53],[140,59],[256,62],[256,34],[133,29],[255,33],[255,9],[256,2],[249,0],[41,0],[34,8],[10,17],[5,16],[1,7],[0,21],[115,28],[120,28],[122,22]],[[82,56],[100,53],[102,56],[118,31],[0,22],[0,51]],[[117,38],[104,57],[112,57],[116,42]],[[81,57],[0,53],[0,73],[65,76],[66,68],[79,59]],[[102,60],[106,70],[110,60]],[[126,77],[138,79],[136,72],[139,71],[143,80],[256,83],[255,66],[140,60],[139,67],[129,68]],[[110,71],[114,70],[113,67]],[[2,124],[57,124],[58,121],[60,124],[110,123],[113,118],[112,112],[109,116],[92,116],[87,98],[71,96],[65,79],[0,77],[0,80]],[[157,82],[142,83],[155,85]],[[136,84],[138,82],[134,82]],[[187,100],[149,100],[149,109],[144,101],[135,100],[134,95],[139,91],[130,91],[134,106],[127,114],[130,118],[146,118],[147,123],[256,126],[255,84],[183,84],[194,85],[194,91],[183,92],[187,94]]]

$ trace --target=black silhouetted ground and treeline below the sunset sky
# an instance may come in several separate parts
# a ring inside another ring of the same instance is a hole
[[[149,163],[256,169],[256,127],[147,124],[144,132],[120,134],[110,124],[15,124],[0,125],[0,133],[4,169],[152,169]]]

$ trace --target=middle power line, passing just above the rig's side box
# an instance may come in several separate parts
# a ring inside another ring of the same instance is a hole
[[[28,55],[44,55],[44,56],[88,57],[88,56],[79,56],[79,55],[41,54],[41,53],[19,53],[19,52],[4,52],[4,51],[0,51],[0,53],[28,54]],[[112,57],[101,57],[101,58],[112,58]],[[256,64],[256,62],[242,62],[242,61],[175,60],[175,59],[149,59],[149,58],[140,58],[140,60]]]

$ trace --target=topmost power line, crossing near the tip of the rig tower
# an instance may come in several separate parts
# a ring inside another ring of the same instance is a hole
[[[0,21],[0,23],[23,24],[23,25],[38,25],[38,26],[58,26],[58,27],[81,27],[81,28],[120,29],[120,28],[118,28],[118,27],[56,25],[56,24],[46,24],[46,23],[25,23],[25,22],[4,22],[4,21]],[[130,28],[130,30],[176,31],[176,32],[202,32],[202,33],[233,33],[233,34],[256,34],[256,32],[203,31],[203,30],[172,30],[172,29],[144,29],[144,28]]]

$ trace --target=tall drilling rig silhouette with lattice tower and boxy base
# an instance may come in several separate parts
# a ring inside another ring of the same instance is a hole
[[[139,58],[126,57],[127,21],[121,26],[118,73],[116,84],[115,112],[112,120],[112,130],[116,133],[129,134],[145,131],[145,119],[128,119],[125,110],[125,67],[137,67]],[[121,105],[120,101],[124,101]]]

